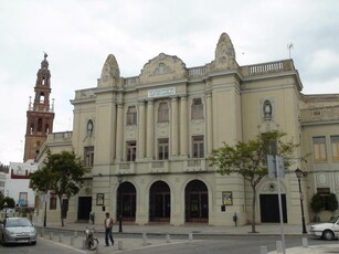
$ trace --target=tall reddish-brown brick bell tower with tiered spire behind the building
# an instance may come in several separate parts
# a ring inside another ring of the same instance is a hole
[[[53,131],[54,102],[51,107],[51,73],[46,59],[47,54],[44,53],[44,60],[41,62],[41,68],[36,74],[33,105],[30,96],[23,161],[35,159],[47,134]]]

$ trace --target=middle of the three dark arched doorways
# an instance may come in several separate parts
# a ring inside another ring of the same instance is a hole
[[[171,194],[163,181],[155,182],[149,190],[149,221],[169,222],[171,216]]]

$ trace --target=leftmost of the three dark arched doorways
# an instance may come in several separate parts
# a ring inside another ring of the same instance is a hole
[[[136,188],[130,182],[123,182],[117,192],[117,216],[121,214],[123,221],[135,221],[136,203]]]

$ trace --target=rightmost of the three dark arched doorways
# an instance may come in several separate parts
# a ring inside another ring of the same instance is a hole
[[[184,210],[187,222],[209,221],[209,191],[202,181],[193,180],[187,184]]]

